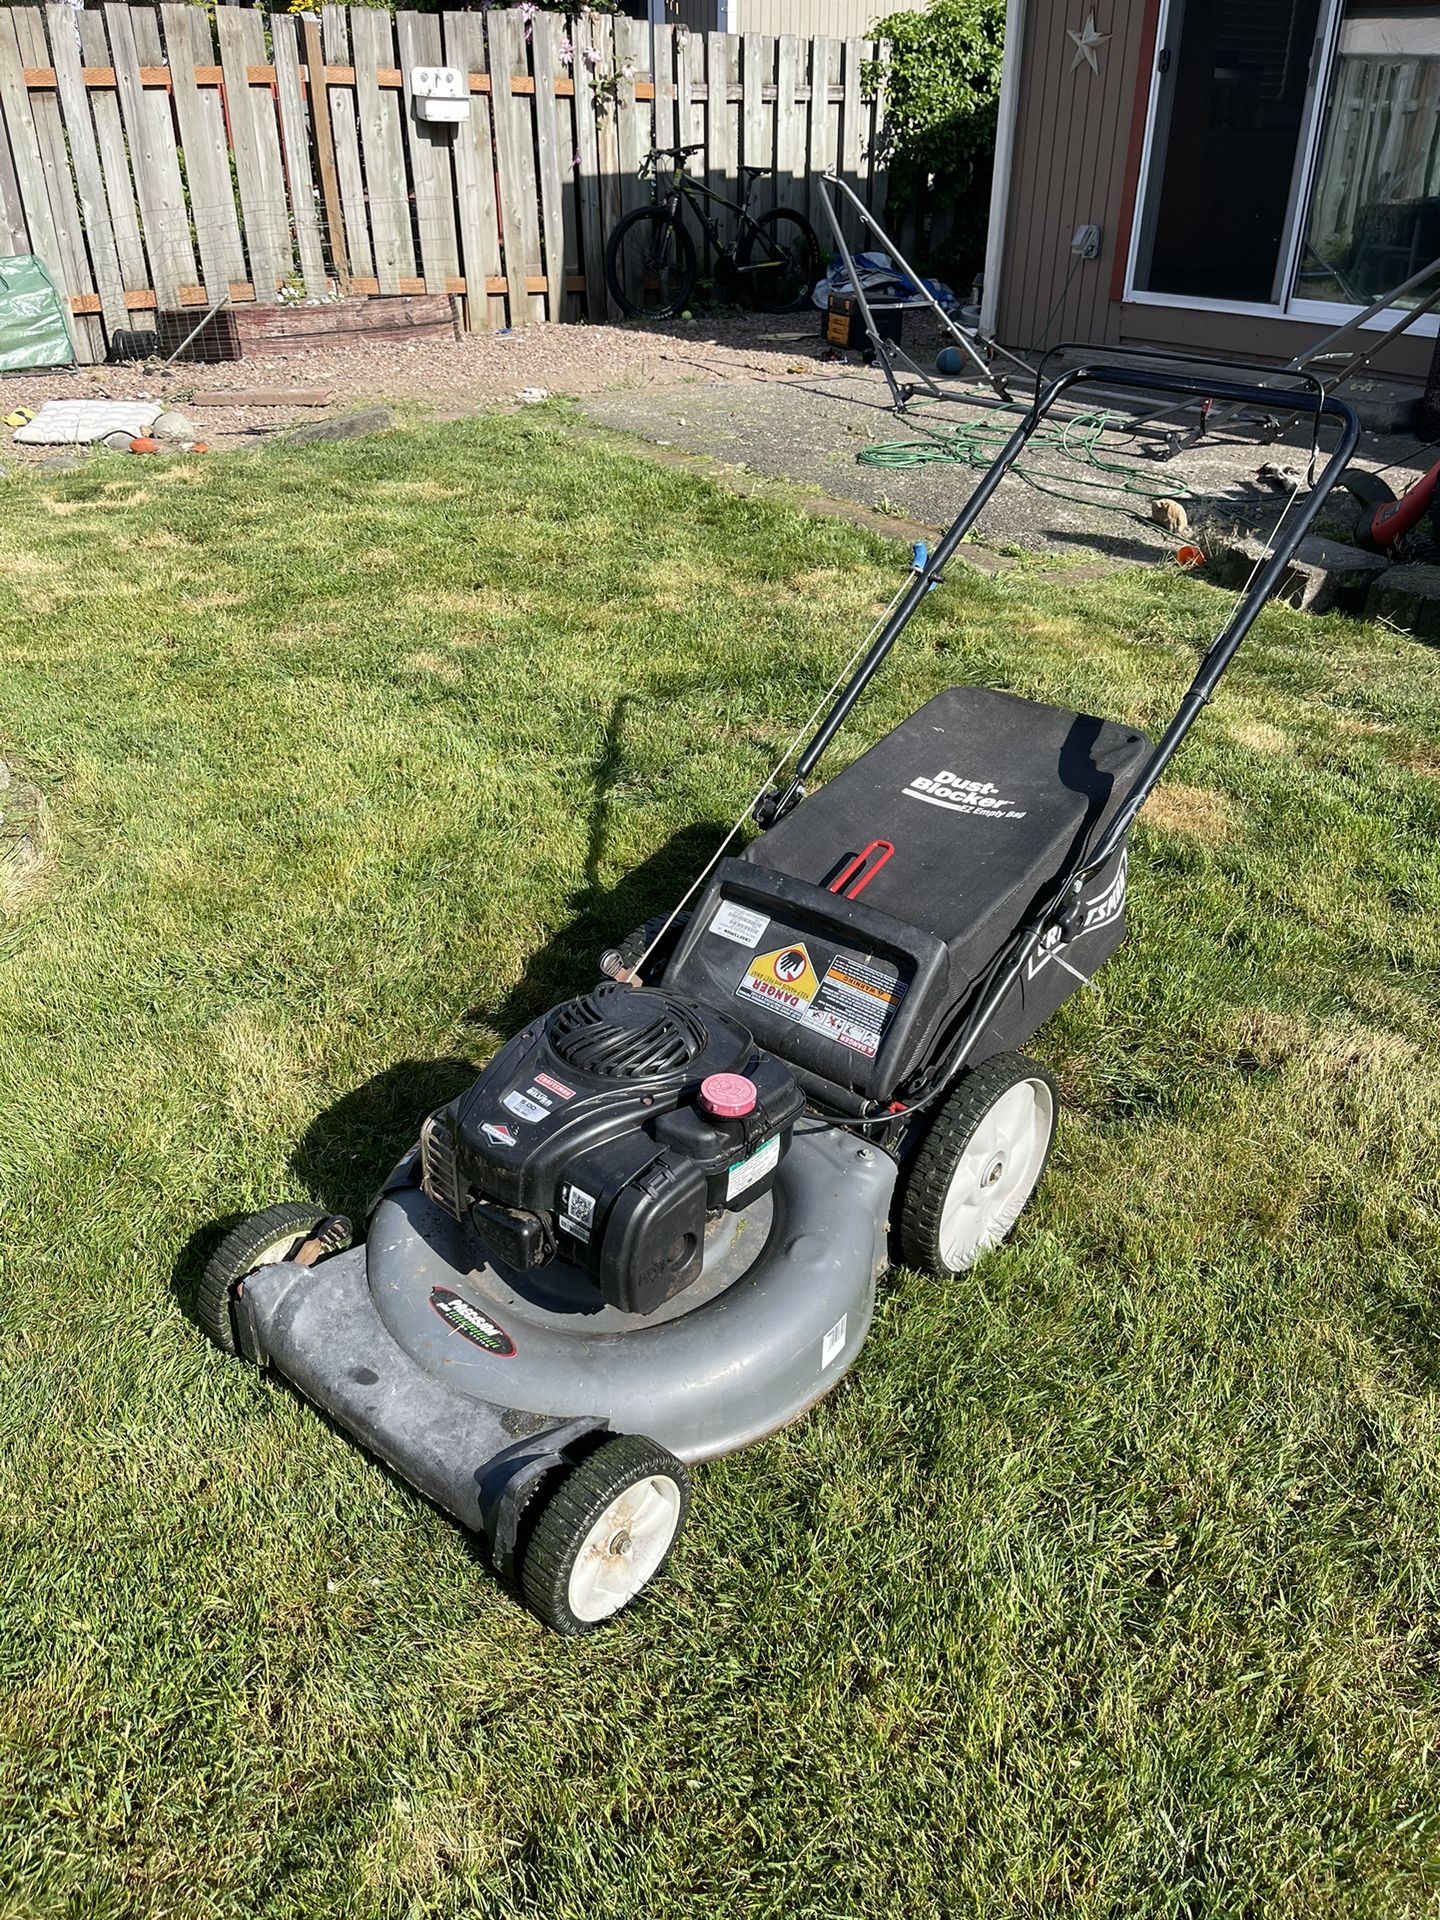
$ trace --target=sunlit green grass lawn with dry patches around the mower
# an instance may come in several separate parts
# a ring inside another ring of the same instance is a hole
[[[561,1642],[188,1290],[589,983],[902,555],[543,417],[6,516],[0,1912],[1440,1912],[1434,651],[1261,620],[1014,1242]],[[956,572],[835,764],[954,680],[1154,730],[1223,611]]]

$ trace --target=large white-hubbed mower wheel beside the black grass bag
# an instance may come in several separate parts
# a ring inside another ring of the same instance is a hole
[[[964,1073],[904,1177],[900,1260],[964,1273],[1020,1219],[1050,1158],[1060,1094],[1023,1054],[995,1054]]]

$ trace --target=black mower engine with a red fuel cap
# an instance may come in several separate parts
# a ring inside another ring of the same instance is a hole
[[[422,1185],[499,1263],[559,1254],[609,1306],[653,1313],[699,1279],[707,1219],[768,1192],[803,1110],[737,1021],[605,981],[424,1123]]]

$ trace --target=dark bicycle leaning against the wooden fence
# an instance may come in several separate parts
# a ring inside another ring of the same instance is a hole
[[[680,219],[684,204],[705,228],[720,271],[749,280],[751,301],[762,313],[803,307],[822,271],[814,228],[793,207],[751,215],[755,182],[776,169],[741,167],[743,198],[728,200],[685,173],[685,161],[699,152],[699,146],[657,146],[641,161],[641,180],[655,180],[655,204],[626,213],[605,246],[605,282],[616,303],[636,321],[668,321],[685,309],[699,265],[695,242]],[[660,161],[672,163],[666,186]],[[705,211],[705,200],[739,215],[730,246]]]

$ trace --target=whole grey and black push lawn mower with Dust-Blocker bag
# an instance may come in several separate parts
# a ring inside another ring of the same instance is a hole
[[[793,772],[787,755],[676,912],[419,1123],[361,1244],[349,1221],[282,1204],[200,1281],[221,1348],[449,1513],[559,1632],[599,1626],[659,1572],[693,1463],[835,1388],[891,1248],[956,1275],[1016,1225],[1058,1108],[1020,1046],[1119,945],[1131,824],[1356,445],[1323,390],[1284,396],[1315,434],[1321,415],[1340,424],[1336,451],[1158,743],[956,685],[806,795],[1079,384],[1277,397],[1127,365],[1037,390],[797,735],[814,726]],[[751,818],[758,835],[728,852]]]

